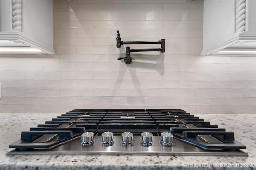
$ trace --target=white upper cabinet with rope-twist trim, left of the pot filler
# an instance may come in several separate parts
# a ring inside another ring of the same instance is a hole
[[[0,53],[55,54],[53,0],[0,0]]]

